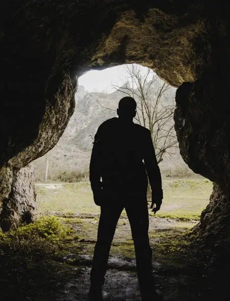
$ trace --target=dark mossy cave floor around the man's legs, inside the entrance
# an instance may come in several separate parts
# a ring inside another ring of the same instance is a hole
[[[58,252],[49,256],[34,253],[32,257],[30,254],[24,257],[15,252],[0,254],[1,301],[87,300],[98,218],[68,215],[58,219],[72,229],[71,234],[62,241]],[[185,238],[194,224],[150,216],[152,266],[157,289],[163,292],[164,300],[216,299],[212,298],[212,294],[203,297],[203,288],[205,294],[206,289],[210,289],[208,274],[200,269]],[[126,216],[120,218],[111,246],[104,299],[141,300]]]

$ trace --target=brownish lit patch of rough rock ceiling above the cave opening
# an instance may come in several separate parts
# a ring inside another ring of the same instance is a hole
[[[195,81],[204,64],[196,44],[200,41],[207,47],[207,32],[203,19],[189,20],[181,26],[182,19],[159,9],[149,9],[141,20],[133,10],[124,12],[90,66],[111,65],[119,59],[120,63],[148,66],[173,86]]]

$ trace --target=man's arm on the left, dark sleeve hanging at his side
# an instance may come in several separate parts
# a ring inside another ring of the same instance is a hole
[[[101,197],[101,189],[102,189],[100,158],[101,158],[100,138],[98,133],[96,133],[90,164],[89,164],[89,181],[91,184],[91,189],[93,190],[94,193],[94,200],[96,205],[100,205],[100,197]]]

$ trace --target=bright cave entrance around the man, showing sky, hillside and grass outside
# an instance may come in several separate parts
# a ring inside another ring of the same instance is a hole
[[[151,69],[140,65],[121,65],[85,73],[79,79],[75,95],[75,112],[64,134],[49,153],[33,162],[36,168],[39,212],[42,215],[54,215],[61,223],[71,228],[71,234],[64,243],[62,256],[64,262],[70,265],[83,266],[83,269],[80,268],[81,273],[74,280],[77,299],[80,299],[80,294],[84,296],[87,294],[89,281],[87,266],[91,265],[94,254],[100,215],[100,207],[94,204],[88,180],[94,135],[103,121],[117,115],[118,102],[125,95],[134,96],[139,107],[137,110],[142,112],[138,80],[141,83],[145,82],[141,92],[146,97],[149,110],[158,110],[158,117],[155,117],[158,127],[154,129],[152,139],[156,140],[155,149],[162,172],[164,200],[161,210],[156,215],[149,210],[149,237],[154,254],[153,266],[156,273],[160,274],[157,279],[159,285],[165,286],[166,270],[172,266],[177,268],[182,261],[186,265],[189,264],[191,257],[183,253],[186,248],[182,234],[194,227],[201,211],[209,203],[212,183],[188,168],[180,157],[177,142],[174,143],[176,133],[173,111],[176,89],[159,79]],[[137,116],[139,119],[134,122],[144,125],[144,120],[140,116]],[[147,116],[146,113],[144,116]],[[145,126],[149,127],[149,123],[146,122]],[[169,140],[157,140],[155,137],[157,133],[163,138],[168,134]],[[164,145],[171,144],[171,147],[163,149],[163,154],[160,153]],[[129,287],[129,298],[133,300],[139,298],[136,278],[129,272],[134,268],[133,241],[128,218],[123,211],[111,245],[105,284],[112,295],[122,299],[127,293],[124,287]],[[191,274],[193,269],[196,267],[191,268]],[[183,273],[183,269],[180,273]],[[178,276],[173,276],[171,280],[172,283],[180,281]],[[189,285],[189,280],[185,281]],[[119,291],[116,288],[119,288]],[[178,294],[181,294],[181,291],[178,292],[178,289],[171,285],[164,290],[165,295],[170,295],[170,290],[173,291],[174,299],[179,299]],[[68,294],[71,294],[71,291]],[[185,295],[187,294],[186,290]],[[194,290],[191,299],[193,294],[196,294]]]

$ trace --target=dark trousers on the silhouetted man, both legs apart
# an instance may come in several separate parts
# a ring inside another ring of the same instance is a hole
[[[95,245],[91,286],[101,287],[107,269],[111,242],[119,217],[125,208],[135,247],[136,271],[142,297],[155,290],[152,276],[152,250],[149,245],[149,215],[146,197],[122,197],[101,206],[98,237]]]

